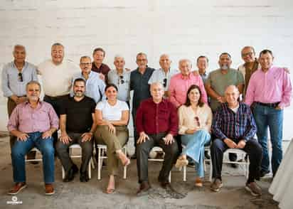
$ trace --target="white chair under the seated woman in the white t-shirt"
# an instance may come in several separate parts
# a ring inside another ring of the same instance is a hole
[[[107,159],[107,145],[105,144],[97,144],[97,180],[101,179],[101,171],[102,171],[102,162],[104,159]],[[126,145],[122,147],[122,152],[127,154]],[[127,177],[127,166],[123,167],[123,178]]]

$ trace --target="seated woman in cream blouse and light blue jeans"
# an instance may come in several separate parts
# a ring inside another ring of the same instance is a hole
[[[197,85],[191,85],[187,91],[186,103],[179,108],[179,134],[184,147],[176,161],[176,167],[188,164],[186,156],[196,161],[196,186],[203,186],[204,146],[211,140],[211,122],[211,108],[201,102],[201,89]]]

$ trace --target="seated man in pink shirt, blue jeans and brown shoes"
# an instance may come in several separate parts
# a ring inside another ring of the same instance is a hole
[[[55,193],[54,182],[54,148],[52,134],[58,129],[58,116],[53,107],[39,100],[41,85],[30,81],[26,85],[28,101],[18,104],[11,114],[7,125],[9,132],[17,137],[11,150],[15,186],[9,195],[16,195],[26,188],[25,156],[36,146],[43,155],[43,174],[46,195]]]

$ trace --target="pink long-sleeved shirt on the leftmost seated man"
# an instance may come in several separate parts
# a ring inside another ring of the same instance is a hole
[[[23,102],[12,112],[7,128],[9,132],[46,132],[51,128],[58,129],[58,123],[58,116],[51,104],[39,101],[36,109],[33,109],[29,102]]]

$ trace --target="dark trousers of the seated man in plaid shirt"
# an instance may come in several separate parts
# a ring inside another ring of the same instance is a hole
[[[221,179],[223,154],[228,149],[224,141],[215,139],[211,144],[211,159],[213,163],[213,178]],[[255,139],[246,142],[243,151],[250,159],[249,176],[247,182],[252,182],[260,175],[260,163],[262,161],[262,146]]]

